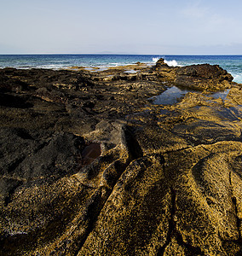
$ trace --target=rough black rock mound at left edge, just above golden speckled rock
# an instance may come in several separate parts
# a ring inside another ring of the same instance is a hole
[[[84,139],[71,133],[2,128],[0,136],[0,150],[4,152],[0,155],[0,180],[9,177],[26,184],[46,182],[71,175],[82,163]]]

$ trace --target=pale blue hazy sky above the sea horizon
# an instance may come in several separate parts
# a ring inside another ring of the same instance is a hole
[[[0,54],[241,55],[241,0],[8,0]]]

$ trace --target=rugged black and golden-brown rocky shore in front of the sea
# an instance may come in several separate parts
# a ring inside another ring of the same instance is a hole
[[[221,67],[4,68],[0,111],[0,255],[241,255],[242,84]]]

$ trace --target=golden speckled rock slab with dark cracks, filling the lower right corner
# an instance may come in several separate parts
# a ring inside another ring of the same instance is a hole
[[[241,154],[242,143],[222,142],[133,161],[78,255],[239,252],[242,181],[230,166]]]

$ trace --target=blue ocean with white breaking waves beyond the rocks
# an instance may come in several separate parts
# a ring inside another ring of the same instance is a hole
[[[217,64],[242,84],[242,55],[0,55],[0,68],[115,67],[137,61],[154,65],[159,58],[173,67]]]

